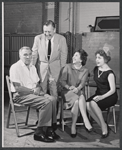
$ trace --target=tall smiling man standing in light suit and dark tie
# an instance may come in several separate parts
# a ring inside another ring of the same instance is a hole
[[[44,93],[49,92],[58,99],[57,81],[60,70],[67,61],[67,44],[64,36],[56,32],[55,23],[48,20],[43,26],[43,34],[34,39],[33,60],[37,63],[37,70]],[[38,61],[37,61],[38,60]]]

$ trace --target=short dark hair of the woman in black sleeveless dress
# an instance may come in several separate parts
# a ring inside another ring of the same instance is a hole
[[[95,56],[97,54],[102,56],[106,60],[106,63],[108,63],[111,60],[110,52],[108,53],[108,52],[104,51],[103,49],[100,49],[95,52]]]

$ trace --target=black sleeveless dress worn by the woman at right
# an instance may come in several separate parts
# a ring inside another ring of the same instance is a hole
[[[104,71],[101,74],[101,76],[98,78],[98,67],[96,66],[94,68],[94,80],[97,84],[97,90],[96,90],[95,95],[91,96],[87,100],[87,102],[92,101],[95,96],[103,95],[110,90],[110,86],[109,86],[109,82],[108,82],[108,75],[110,73],[114,74],[114,72],[112,70]],[[115,76],[115,74],[114,74],[114,76]],[[96,103],[98,104],[98,106],[100,107],[101,110],[105,110],[106,108],[115,105],[117,100],[118,100],[117,91],[115,91],[114,94],[112,94],[109,97],[106,97],[105,99],[102,99]]]

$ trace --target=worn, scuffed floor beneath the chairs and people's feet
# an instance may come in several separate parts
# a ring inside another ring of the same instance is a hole
[[[113,128],[111,127],[109,137],[106,139],[101,139],[101,130],[98,125],[94,122],[93,127],[95,128],[94,133],[90,134],[84,129],[84,126],[77,126],[77,137],[72,139],[70,137],[70,125],[65,126],[65,131],[62,132],[60,125],[57,129],[57,134],[60,135],[61,139],[56,141],[55,143],[44,143],[34,141],[33,133],[36,129],[35,122],[37,120],[36,111],[31,109],[29,116],[29,125],[28,127],[24,127],[19,129],[21,133],[21,137],[16,136],[15,127],[11,126],[10,128],[6,128],[6,120],[7,120],[7,111],[8,111],[8,100],[6,100],[4,106],[4,120],[3,120],[3,147],[49,147],[49,148],[120,148],[120,139],[119,139],[119,107],[116,108],[116,120],[117,120],[117,133],[113,132]],[[60,110],[59,110],[60,113]],[[66,116],[69,116],[69,113],[65,113]],[[20,113],[17,115],[18,122],[24,121],[25,114]],[[59,115],[58,115],[59,118]],[[110,122],[112,122],[112,113],[110,115]],[[13,115],[11,115],[11,123],[13,122]],[[23,126],[21,126],[23,127]]]

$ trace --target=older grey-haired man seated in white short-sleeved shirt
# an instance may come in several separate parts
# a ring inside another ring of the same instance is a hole
[[[31,65],[32,51],[29,47],[19,50],[20,60],[10,68],[11,90],[14,101],[30,106],[39,111],[38,125],[34,133],[34,140],[54,142],[59,139],[53,128],[56,125],[56,100],[44,94],[39,84],[39,77],[35,66]],[[44,127],[46,131],[44,131]]]

